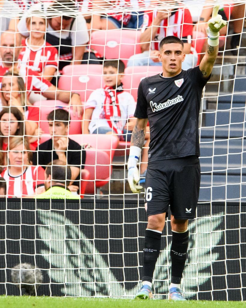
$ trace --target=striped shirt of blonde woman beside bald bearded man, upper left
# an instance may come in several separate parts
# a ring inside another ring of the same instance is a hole
[[[22,41],[23,48],[18,58],[20,66],[38,73],[42,73],[48,66],[58,67],[58,51],[55,47],[45,42],[38,49],[32,49],[27,40]]]

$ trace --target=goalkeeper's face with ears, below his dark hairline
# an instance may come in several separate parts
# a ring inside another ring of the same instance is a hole
[[[158,55],[162,62],[163,77],[172,77],[181,72],[185,60],[184,48],[179,43],[164,44]]]

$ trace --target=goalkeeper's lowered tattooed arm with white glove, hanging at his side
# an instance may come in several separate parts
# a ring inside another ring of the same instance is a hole
[[[137,119],[136,125],[133,128],[129,159],[127,163],[128,183],[133,193],[140,193],[142,186],[137,185],[140,180],[137,163],[144,145],[146,135],[146,125],[148,119]]]

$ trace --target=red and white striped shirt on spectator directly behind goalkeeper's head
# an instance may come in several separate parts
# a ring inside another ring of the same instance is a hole
[[[145,31],[146,27],[150,27],[152,25],[156,15],[157,10],[146,12],[144,14],[144,22],[141,30],[142,32]],[[187,8],[180,8],[175,14],[161,21],[161,24],[157,30],[157,36],[154,39],[155,42],[151,43],[151,50],[159,50],[160,41],[168,35],[174,35],[179,39],[187,37],[188,43],[191,43],[192,31],[193,23],[190,11]]]

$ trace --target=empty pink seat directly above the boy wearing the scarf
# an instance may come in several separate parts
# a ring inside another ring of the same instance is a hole
[[[125,65],[130,56],[141,53],[141,31],[137,30],[97,30],[91,34],[91,48],[106,59],[121,59]]]

